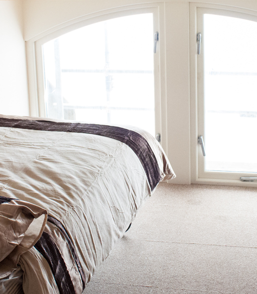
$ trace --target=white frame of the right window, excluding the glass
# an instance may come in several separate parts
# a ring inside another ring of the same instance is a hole
[[[200,12],[201,11],[201,12]],[[215,12],[216,11],[216,12]],[[198,68],[203,67],[202,58],[197,58],[197,22],[198,12],[234,16],[248,20],[257,20],[257,11],[221,4],[190,3],[190,96],[191,96],[191,183],[218,184],[257,187],[257,182],[240,181],[239,173],[214,172],[204,170],[204,157],[198,144],[198,136],[204,129],[203,105],[199,96],[203,95],[203,88],[198,87]],[[201,78],[201,77],[199,77]],[[201,112],[201,114],[199,113]],[[242,176],[242,173],[241,173]],[[253,176],[244,173],[244,176]],[[256,175],[255,175],[256,176]]]

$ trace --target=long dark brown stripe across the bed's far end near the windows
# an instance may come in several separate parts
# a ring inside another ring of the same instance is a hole
[[[140,134],[131,130],[105,125],[7,118],[0,118],[0,127],[52,132],[85,133],[112,138],[126,144],[136,153],[145,170],[151,190],[153,190],[161,180],[157,159],[148,142]]]

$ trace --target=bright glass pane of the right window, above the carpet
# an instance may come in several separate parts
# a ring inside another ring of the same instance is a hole
[[[257,172],[257,23],[204,15],[206,170]]]

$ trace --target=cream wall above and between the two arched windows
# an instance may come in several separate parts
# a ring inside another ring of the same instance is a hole
[[[189,2],[190,0],[24,0],[24,39],[36,40],[60,24],[76,22],[86,14],[109,8],[160,2],[164,23],[162,39],[165,64],[162,92],[166,97],[162,110],[167,114],[164,149],[177,178],[173,183],[190,184],[190,62],[189,62]],[[257,10],[257,0],[199,0]],[[160,35],[160,38],[162,36]]]

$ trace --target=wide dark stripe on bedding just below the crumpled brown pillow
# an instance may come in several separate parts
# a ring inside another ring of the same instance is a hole
[[[66,264],[51,237],[43,232],[34,247],[48,262],[60,294],[76,294]]]

